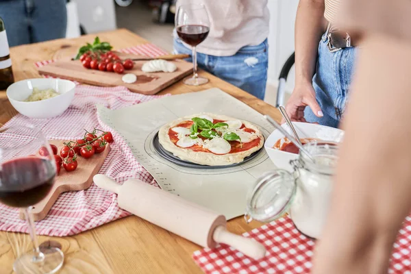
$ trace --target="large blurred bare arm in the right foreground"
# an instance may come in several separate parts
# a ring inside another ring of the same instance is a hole
[[[387,273],[411,209],[411,42],[364,34],[314,274]]]

